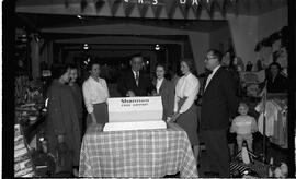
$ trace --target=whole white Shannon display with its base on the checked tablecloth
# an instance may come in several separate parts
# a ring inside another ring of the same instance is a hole
[[[109,98],[104,131],[166,129],[160,96]]]

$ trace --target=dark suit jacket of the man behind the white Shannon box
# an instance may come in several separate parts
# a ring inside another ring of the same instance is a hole
[[[137,86],[133,71],[128,70],[122,75],[117,90],[123,97],[126,96],[127,91],[133,91],[136,96],[148,96],[148,93],[151,93],[155,87],[143,71],[139,72],[139,85]]]

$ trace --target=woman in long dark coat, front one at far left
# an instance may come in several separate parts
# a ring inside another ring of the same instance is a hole
[[[80,156],[80,128],[76,110],[75,99],[69,82],[70,68],[58,67],[54,69],[54,81],[47,91],[48,114],[46,135],[48,138],[48,151],[55,154],[56,146],[66,143],[73,152],[72,165],[79,166]]]

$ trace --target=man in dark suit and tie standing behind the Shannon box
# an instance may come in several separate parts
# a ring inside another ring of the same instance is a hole
[[[149,76],[140,71],[143,64],[143,57],[140,55],[132,57],[132,69],[124,73],[118,82],[117,90],[123,97],[148,96],[155,93],[155,87]]]

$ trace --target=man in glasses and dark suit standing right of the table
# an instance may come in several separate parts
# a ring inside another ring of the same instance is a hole
[[[237,86],[229,72],[220,67],[221,52],[210,49],[205,67],[212,73],[206,77],[201,109],[201,127],[205,141],[210,171],[229,177],[227,132],[229,119],[238,108]]]

